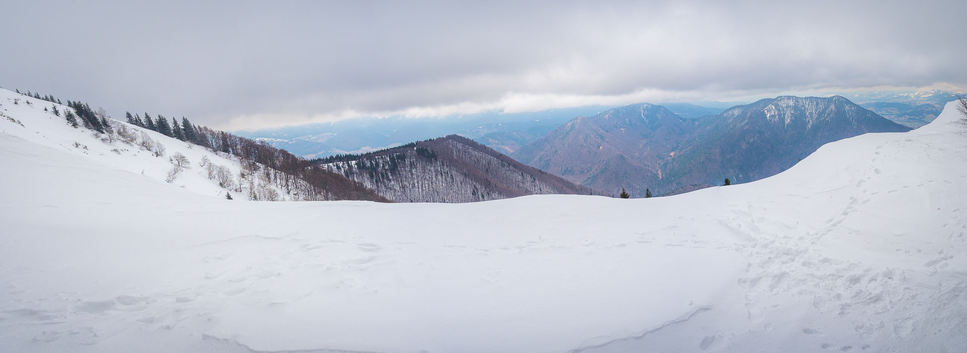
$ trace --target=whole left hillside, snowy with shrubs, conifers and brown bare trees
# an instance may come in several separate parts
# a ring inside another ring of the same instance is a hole
[[[278,150],[253,144],[245,146],[263,156],[273,155],[264,160],[276,165],[266,165],[227,153],[238,150],[237,154],[241,155],[242,145],[246,141],[203,127],[198,127],[199,133],[218,140],[209,145],[225,141],[231,146],[213,150],[106,117],[103,117],[103,122],[109,127],[104,132],[85,127],[85,124],[78,124],[74,128],[67,119],[68,112],[78,115],[74,120],[82,119],[72,107],[3,89],[0,89],[0,109],[0,130],[10,136],[63,149],[78,157],[99,162],[105,169],[125,170],[169,187],[220,198],[227,193],[234,200],[386,201],[373,191],[336,173],[320,170],[294,175],[281,172],[278,168],[282,165],[277,161],[288,164],[285,167],[289,169],[292,169],[290,166],[308,162],[300,162],[294,156]]]

